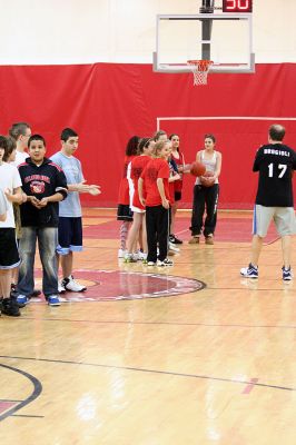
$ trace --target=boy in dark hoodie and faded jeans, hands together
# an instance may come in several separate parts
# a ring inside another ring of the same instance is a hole
[[[40,135],[32,135],[28,141],[27,158],[19,166],[22,190],[27,202],[21,206],[22,238],[20,240],[18,303],[29,303],[33,290],[33,267],[36,244],[42,263],[42,290],[50,306],[59,306],[58,245],[59,201],[67,197],[67,180],[63,171],[46,158],[46,141]]]

